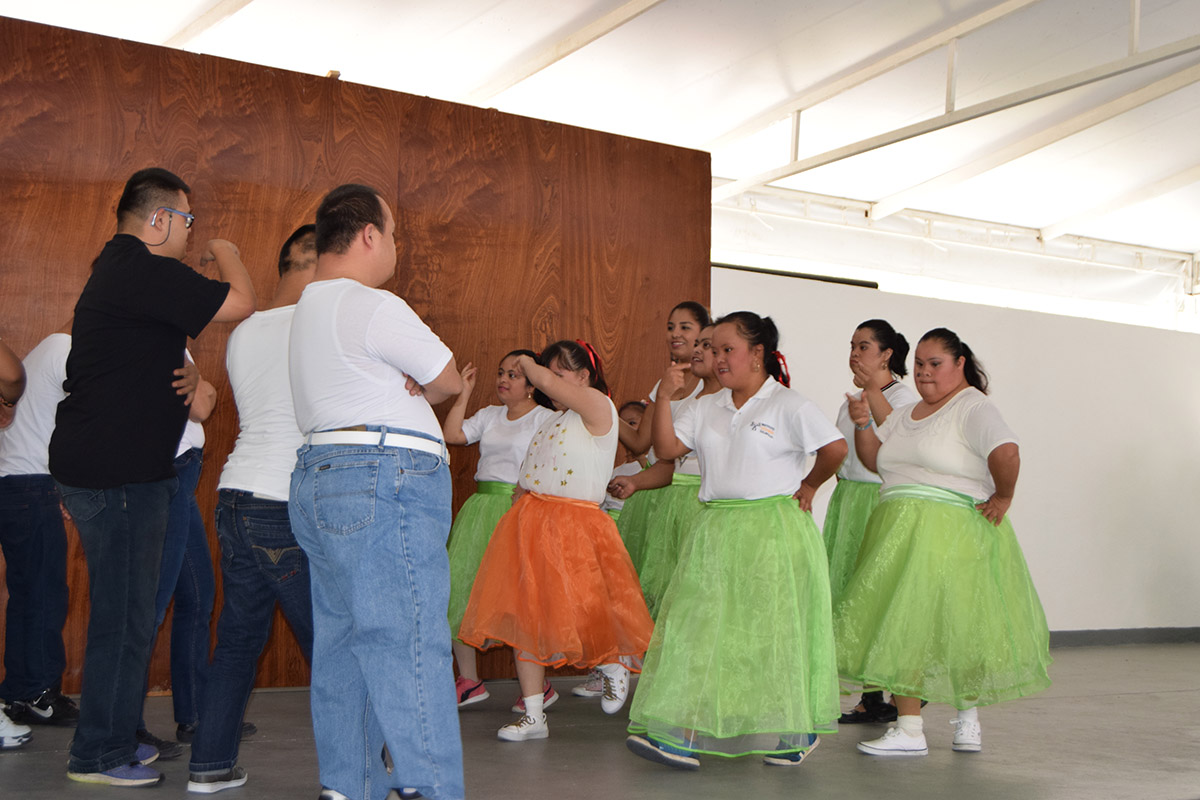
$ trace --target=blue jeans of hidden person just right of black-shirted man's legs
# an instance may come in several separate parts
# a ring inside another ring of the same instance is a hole
[[[209,536],[196,504],[196,486],[203,465],[204,453],[199,447],[175,458],[179,492],[172,498],[167,515],[167,539],[155,595],[156,631],[167,616],[172,597],[175,599],[170,621],[170,698],[175,722],[182,724],[196,724],[199,718],[200,692],[209,663],[209,624],[216,596]]]

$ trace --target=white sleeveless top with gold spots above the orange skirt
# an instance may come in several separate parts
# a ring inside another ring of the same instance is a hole
[[[600,505],[608,492],[617,458],[617,407],[608,401],[612,427],[593,437],[575,411],[552,413],[538,427],[521,464],[518,483],[540,494],[588,500]]]

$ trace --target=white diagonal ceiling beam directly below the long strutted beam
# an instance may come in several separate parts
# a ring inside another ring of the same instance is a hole
[[[1180,89],[1183,89],[1184,86],[1188,86],[1198,80],[1200,80],[1200,64],[1174,72],[1147,86],[1142,86],[1141,89],[1134,90],[1128,95],[1123,95],[1116,100],[1109,101],[1108,103],[1088,109],[1082,114],[1070,118],[1069,120],[1063,120],[1062,122],[1051,125],[1050,127],[1038,131],[1033,136],[1025,137],[1019,142],[997,148],[982,158],[977,158],[970,163],[956,167],[948,173],[931,178],[923,184],[918,184],[917,186],[911,186],[906,190],[896,192],[895,194],[890,194],[882,200],[871,204],[870,216],[872,219],[882,219],[883,217],[890,216],[896,211],[907,209],[910,203],[918,197],[925,197],[947,187],[956,186],[958,184],[970,180],[976,175],[982,175],[983,173],[992,170],[996,167],[1007,164],[1008,162],[1021,158],[1022,156],[1027,156],[1036,150],[1048,148],[1056,142],[1062,142],[1067,137],[1074,136],[1080,131],[1086,131],[1087,128],[1099,125],[1100,122],[1105,122],[1115,116],[1130,112],[1139,106],[1145,106],[1151,101],[1170,95],[1174,91],[1178,91]]]

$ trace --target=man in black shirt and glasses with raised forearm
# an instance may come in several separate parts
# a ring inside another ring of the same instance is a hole
[[[166,169],[136,173],[116,206],[116,235],[79,295],[67,356],[68,392],[50,438],[50,474],[79,529],[91,618],[79,723],[67,776],[148,786],[157,751],[134,740],[155,627],[155,590],[178,488],[173,462],[191,396],[173,387],[184,347],[210,321],[254,311],[238,248],[214,239],[182,264],[194,217],[187,184]],[[193,387],[194,390],[194,387]]]

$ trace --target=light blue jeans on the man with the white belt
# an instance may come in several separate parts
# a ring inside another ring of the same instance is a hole
[[[460,800],[446,462],[378,445],[305,445],[296,455],[288,511],[312,570],[320,782],[354,800],[400,787]]]

